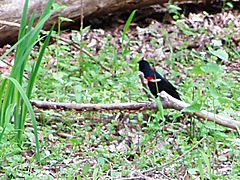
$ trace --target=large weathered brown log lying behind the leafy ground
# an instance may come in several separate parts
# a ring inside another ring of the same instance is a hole
[[[153,4],[164,4],[169,0],[55,0],[60,5],[66,6],[61,12],[55,13],[46,24],[46,28],[56,22],[57,17],[63,16],[70,19],[79,19],[81,11],[84,17],[96,17],[116,11],[131,10]],[[174,0],[174,2],[187,2],[188,0]],[[212,2],[213,0],[190,0],[193,3]],[[31,0],[29,10],[36,11],[40,16],[48,0]],[[21,19],[24,0],[3,0],[0,3],[0,46],[16,41],[18,27],[6,24],[7,22],[19,23]],[[82,8],[81,8],[82,7]]]

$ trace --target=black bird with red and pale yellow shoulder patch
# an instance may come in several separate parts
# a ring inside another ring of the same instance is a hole
[[[172,97],[181,100],[177,89],[167,79],[155,71],[147,61],[141,60],[138,63],[139,71],[143,72],[144,78],[148,81],[148,87],[155,97],[157,97],[161,91],[165,91]]]

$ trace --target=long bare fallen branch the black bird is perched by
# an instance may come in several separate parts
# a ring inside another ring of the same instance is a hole
[[[190,104],[180,101],[168,95],[166,92],[161,92],[160,97],[165,109],[182,110],[188,107]],[[77,104],[77,103],[58,103],[48,101],[31,101],[32,105],[41,109],[55,109],[55,110],[76,110],[76,111],[145,111],[145,110],[157,110],[157,105],[154,101],[141,102],[141,103],[112,103],[112,104]],[[206,119],[213,121],[219,125],[229,127],[232,129],[240,128],[240,122],[222,117],[220,115],[208,112],[200,111],[194,113],[188,113],[191,116],[196,116],[200,119]]]

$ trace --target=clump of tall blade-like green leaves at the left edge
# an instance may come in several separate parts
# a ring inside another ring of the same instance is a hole
[[[1,127],[3,127],[3,131],[1,133],[3,135],[7,124],[10,123],[12,120],[14,120],[14,127],[17,131],[16,139],[19,145],[21,145],[22,134],[24,133],[24,124],[26,121],[26,115],[27,115],[27,112],[30,112],[33,127],[34,127],[35,139],[36,139],[37,158],[39,159],[40,147],[38,142],[37,123],[36,123],[35,115],[29,99],[31,97],[37,72],[41,64],[44,51],[50,40],[50,36],[53,28],[50,30],[49,34],[47,35],[44,41],[44,44],[39,52],[38,59],[32,67],[30,78],[27,80],[24,79],[24,71],[25,71],[25,67],[28,62],[32,47],[42,39],[40,38],[37,40],[44,23],[52,14],[51,6],[53,4],[53,0],[49,0],[35,27],[33,27],[33,23],[35,21],[35,13],[31,15],[29,19],[29,23],[27,23],[28,4],[29,4],[29,1],[26,0],[24,4],[24,9],[23,9],[18,42],[0,58],[0,60],[3,59],[10,51],[16,48],[15,61],[14,61],[14,65],[13,65],[10,77],[3,77],[3,80],[1,82],[0,125]]]

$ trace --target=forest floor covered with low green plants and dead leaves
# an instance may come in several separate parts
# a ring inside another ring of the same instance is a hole
[[[177,87],[184,101],[240,121],[239,11],[175,15],[176,20],[166,13],[133,21],[124,42],[127,18],[108,28],[56,32],[72,44],[61,38],[51,42],[33,99],[148,101],[138,77],[137,62],[145,59]],[[8,48],[1,48],[0,54]],[[33,52],[29,66],[35,57]],[[13,58],[14,53],[5,60],[12,63]],[[7,74],[10,68],[1,62],[0,71]],[[41,162],[34,158],[30,120],[20,148],[12,142],[9,125],[0,145],[0,178],[240,178],[239,131],[176,110],[165,110],[164,120],[156,111],[36,109],[36,114]]]

